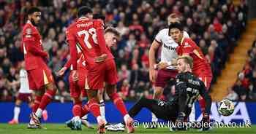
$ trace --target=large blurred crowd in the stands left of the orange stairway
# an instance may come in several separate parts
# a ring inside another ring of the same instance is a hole
[[[106,25],[118,29],[121,39],[113,47],[113,55],[118,68],[117,90],[124,100],[137,100],[143,95],[152,97],[148,50],[158,31],[167,28],[170,13],[181,17],[184,30],[211,63],[212,83],[225,68],[229,53],[233,52],[245,29],[247,17],[246,3],[234,6],[231,0],[0,0],[0,101],[13,101],[17,95],[18,86],[12,83],[18,81],[23,60],[20,35],[26,23],[26,11],[32,6],[42,10],[39,31],[43,47],[50,54],[48,66],[54,74],[69,59],[64,31],[75,20],[78,7],[93,7],[94,13],[105,16]],[[68,76],[69,72],[61,78],[56,77],[59,89],[56,101],[70,100]],[[174,90],[170,82],[164,95],[170,92],[172,95]],[[108,100],[108,96],[105,98]]]

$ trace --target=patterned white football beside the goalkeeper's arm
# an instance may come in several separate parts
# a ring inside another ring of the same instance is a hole
[[[223,116],[227,117],[233,114],[233,111],[235,109],[235,106],[232,101],[230,100],[222,100],[219,103],[219,114],[222,114]]]

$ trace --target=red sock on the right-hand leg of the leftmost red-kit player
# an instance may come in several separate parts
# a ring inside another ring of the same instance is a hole
[[[47,90],[45,92],[45,94],[42,96],[42,101],[39,105],[39,108],[44,110],[46,108],[46,106],[48,105],[48,103],[50,103],[51,99],[53,98],[53,96],[55,95],[56,91],[54,90]]]

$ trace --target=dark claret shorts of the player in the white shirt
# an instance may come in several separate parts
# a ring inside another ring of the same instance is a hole
[[[172,70],[172,69],[160,69],[157,72],[157,79],[156,83],[154,84],[156,87],[162,87],[164,88],[167,82],[170,79],[176,79],[176,76],[178,74],[177,70]]]

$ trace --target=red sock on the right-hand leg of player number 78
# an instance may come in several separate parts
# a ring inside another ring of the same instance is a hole
[[[127,114],[127,108],[124,105],[124,101],[120,98],[118,93],[113,93],[109,95],[110,99],[113,101],[113,103],[116,105],[116,108],[118,111],[121,112],[121,114],[124,116]]]

